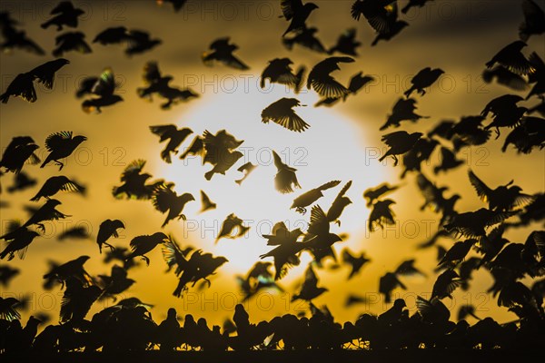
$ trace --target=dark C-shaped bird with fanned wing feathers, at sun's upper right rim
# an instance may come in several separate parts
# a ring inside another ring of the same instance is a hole
[[[350,91],[337,82],[330,74],[333,71],[340,70],[340,63],[353,63],[355,60],[351,57],[329,57],[322,62],[314,65],[307,78],[307,88],[311,87],[322,97],[340,98]]]

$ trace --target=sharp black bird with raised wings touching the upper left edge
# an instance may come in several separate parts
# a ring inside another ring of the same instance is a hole
[[[25,101],[34,103],[37,100],[34,81],[44,84],[48,90],[53,89],[54,74],[66,64],[70,62],[64,58],[55,59],[54,61],[46,62],[38,65],[34,69],[25,74],[17,74],[15,79],[9,83],[5,93],[0,95],[0,101],[7,103],[10,96],[21,97]]]

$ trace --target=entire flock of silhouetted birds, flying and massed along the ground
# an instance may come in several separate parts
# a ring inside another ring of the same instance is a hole
[[[167,1],[158,1],[166,3]],[[173,3],[175,11],[179,11],[185,1],[168,1]],[[424,6],[427,0],[410,0],[401,9],[405,14],[411,6]],[[307,22],[318,6],[301,0],[281,0],[282,15],[289,26],[282,34],[282,44],[288,50],[294,44],[306,47],[314,52],[326,56],[318,64],[312,66],[307,74],[304,65],[292,68],[292,61],[287,58],[272,59],[263,70],[261,86],[266,80],[270,83],[281,83],[298,93],[306,87],[318,93],[322,99],[315,106],[332,106],[340,101],[344,102],[348,96],[353,96],[362,87],[372,81],[369,75],[362,73],[352,76],[348,85],[340,83],[332,73],[340,69],[341,64],[354,63],[357,56],[356,48],[361,45],[355,40],[355,31],[344,32],[330,50],[326,50],[315,37],[316,28],[308,27]],[[329,209],[323,210],[316,202],[323,193],[338,187],[341,181],[325,182],[315,188],[304,191],[292,202],[291,208],[302,214],[310,209],[310,221],[307,231],[295,229],[290,231],[280,221],[274,224],[270,234],[263,235],[266,244],[271,250],[264,253],[261,259],[272,258],[271,261],[258,261],[246,276],[236,277],[244,293],[244,299],[252,299],[263,289],[278,289],[282,287],[279,280],[286,275],[290,267],[301,263],[302,252],[312,255],[312,262],[308,265],[301,289],[292,294],[292,299],[302,299],[309,303],[312,318],[296,317],[286,314],[271,321],[262,321],[251,324],[242,305],[235,309],[233,322],[226,322],[223,332],[219,326],[209,329],[206,320],[194,321],[193,316],[187,315],[183,327],[176,318],[176,311],[170,309],[168,317],[157,325],[151,317],[149,304],[139,299],[130,298],[119,301],[116,305],[106,308],[92,317],[85,319],[88,311],[97,300],[115,299],[115,297],[129,289],[134,280],[128,278],[128,271],[138,265],[136,258],[142,258],[150,263],[146,256],[150,251],[161,248],[163,259],[168,270],[178,278],[178,285],[173,295],[183,298],[183,292],[194,287],[197,283],[200,288],[210,285],[210,277],[228,261],[222,256],[213,256],[184,246],[182,248],[172,235],[157,231],[150,235],[136,236],[130,241],[130,250],[124,247],[114,247],[110,242],[118,237],[120,230],[125,228],[124,222],[118,219],[104,220],[100,224],[96,236],[99,253],[104,250],[104,262],[115,261],[110,275],[89,274],[84,264],[89,256],[80,256],[64,263],[51,262],[50,270],[44,275],[45,289],[53,289],[60,284],[64,289],[64,296],[60,310],[59,325],[49,325],[37,337],[39,319],[31,317],[22,328],[20,313],[17,311],[22,302],[14,298],[0,298],[0,351],[20,351],[30,348],[36,351],[70,351],[74,349],[104,351],[116,349],[138,350],[153,348],[159,345],[161,349],[173,348],[202,348],[204,350],[248,349],[248,348],[277,348],[282,342],[285,349],[291,348],[347,348],[358,346],[362,348],[483,348],[493,347],[534,347],[543,338],[545,312],[543,297],[545,296],[545,231],[532,231],[524,243],[511,242],[503,237],[505,231],[511,228],[529,226],[530,223],[542,223],[545,218],[545,197],[542,191],[536,194],[524,193],[514,181],[504,185],[491,186],[471,170],[468,178],[477,195],[486,204],[477,211],[457,211],[455,203],[461,196],[458,194],[447,197],[446,186],[438,186],[421,172],[422,162],[430,160],[431,153],[441,150],[441,164],[433,168],[434,173],[448,172],[461,166],[457,153],[463,148],[482,145],[490,140],[492,131],[497,136],[500,131],[510,130],[505,139],[502,152],[507,152],[510,145],[519,153],[530,153],[545,146],[545,64],[537,53],[526,56],[522,53],[523,47],[530,36],[542,36],[545,33],[545,15],[538,5],[531,0],[522,1],[522,10],[525,21],[520,25],[520,40],[507,44],[493,55],[485,65],[483,77],[492,82],[496,79],[503,86],[520,92],[531,87],[525,96],[519,94],[505,94],[490,100],[478,115],[463,116],[459,121],[444,121],[424,134],[422,132],[394,131],[382,136],[382,141],[388,146],[379,161],[391,157],[397,166],[402,164],[401,178],[408,172],[416,175],[417,185],[421,191],[424,203],[421,210],[431,209],[440,217],[440,228],[430,240],[421,243],[419,248],[437,248],[438,265],[434,271],[438,276],[433,284],[430,299],[418,297],[418,311],[409,316],[405,302],[395,299],[391,306],[378,317],[363,314],[352,324],[344,325],[334,322],[330,311],[326,307],[317,308],[312,300],[327,291],[319,287],[319,280],[315,269],[324,268],[323,260],[332,259],[350,267],[351,272],[347,279],[352,279],[362,268],[371,261],[365,253],[354,253],[351,250],[342,250],[342,258],[338,261],[335,253],[335,244],[342,240],[343,235],[330,231],[330,225],[341,225],[342,211],[352,201],[345,195],[351,188],[352,181],[342,185],[340,191]],[[78,17],[84,14],[82,9],[74,7],[71,2],[63,1],[51,12],[51,18],[42,27],[56,26],[58,32],[64,27],[75,28]],[[352,5],[352,17],[356,21],[364,18],[376,32],[372,45],[379,41],[390,41],[397,37],[402,29],[409,25],[398,14],[398,4],[395,0],[356,0]],[[9,14],[0,15],[1,33],[4,42],[0,48],[4,51],[23,49],[35,54],[45,54],[44,50],[27,37],[25,31],[17,28],[18,23]],[[110,46],[124,44],[125,54],[134,55],[152,50],[161,44],[159,39],[153,39],[146,32],[128,30],[124,26],[107,28],[97,34],[93,43]],[[238,48],[229,38],[220,38],[210,44],[209,50],[202,55],[203,64],[223,64],[238,70],[249,68],[233,53]],[[55,57],[69,52],[90,53],[91,47],[84,41],[81,32],[67,32],[56,37]],[[332,56],[340,53],[342,56]],[[43,83],[46,88],[52,89],[54,74],[70,62],[58,58],[34,69],[18,74],[5,92],[0,95],[2,103],[8,103],[11,97],[20,97],[27,102],[37,101],[35,83]],[[394,104],[391,114],[381,130],[401,127],[402,122],[417,123],[421,116],[416,111],[417,100],[413,93],[425,96],[426,89],[435,83],[443,74],[440,68],[424,68],[411,79],[411,87]],[[306,82],[305,82],[306,79]],[[181,89],[170,84],[173,77],[164,75],[157,63],[150,62],[144,66],[144,86],[136,92],[142,98],[151,99],[154,96],[165,100],[161,105],[169,109],[173,104],[186,102],[198,97],[190,89]],[[115,94],[117,84],[114,72],[106,68],[103,74],[89,77],[81,83],[77,90],[77,98],[87,97],[82,108],[85,112],[100,113],[102,108],[109,107],[123,101]],[[519,103],[540,100],[533,107],[525,107]],[[282,98],[263,109],[261,114],[263,123],[277,123],[292,132],[304,132],[311,127],[297,115],[293,108],[301,106],[296,98]],[[3,106],[7,107],[7,106]],[[540,116],[541,117],[540,117]],[[486,124],[485,124],[486,123]],[[164,162],[173,162],[173,156],[184,159],[187,155],[199,155],[203,164],[209,163],[212,169],[205,173],[205,178],[211,180],[214,174],[224,174],[241,159],[243,153],[237,151],[242,140],[227,132],[205,131],[202,135],[195,135],[189,147],[179,152],[181,145],[193,131],[189,128],[179,129],[174,124],[150,126],[150,131],[158,136],[160,142],[165,142],[161,158]],[[52,162],[63,169],[62,160],[71,155],[82,142],[84,135],[74,135],[73,132],[55,132],[45,139],[45,148],[49,152],[41,164],[45,167]],[[445,145],[450,144],[450,147]],[[15,136],[5,148],[0,160],[3,173],[12,172],[15,182],[7,191],[22,191],[35,186],[28,174],[28,164],[37,164],[40,161],[36,150],[40,146],[30,136]],[[179,155],[179,156],[178,156]],[[274,185],[281,193],[291,193],[301,189],[298,182],[297,170],[282,162],[278,153],[273,152],[274,165],[277,173]],[[185,220],[183,209],[186,203],[195,201],[191,193],[178,194],[173,190],[174,183],[162,179],[153,180],[153,175],[144,172],[145,161],[131,162],[120,177],[120,184],[114,186],[112,194],[118,199],[149,200],[154,208],[165,214],[161,229],[173,220]],[[242,183],[255,169],[255,165],[247,162],[238,170],[244,173]],[[25,171],[23,171],[25,169]],[[396,191],[400,185],[383,183],[376,188],[363,193],[367,206],[372,210],[369,216],[369,231],[376,231],[389,224],[395,224],[395,215],[392,211],[391,199],[385,195]],[[31,201],[45,199],[39,208],[30,210],[30,217],[25,223],[13,222],[8,231],[0,237],[5,240],[6,247],[0,252],[0,259],[12,260],[15,254],[23,259],[33,241],[45,231],[45,221],[62,220],[67,217],[57,207],[61,201],[54,199],[61,191],[74,191],[84,194],[85,186],[70,180],[63,175],[49,178],[36,192]],[[209,211],[216,208],[204,191],[201,191],[202,210]],[[493,228],[492,228],[493,227]],[[243,225],[243,220],[234,213],[223,221],[216,243],[223,239],[242,237],[249,227]],[[74,228],[65,231],[58,238],[86,238],[85,231]],[[441,238],[454,240],[446,250],[437,241]],[[471,253],[471,251],[473,253]],[[406,289],[402,282],[404,276],[421,274],[424,272],[414,266],[415,260],[405,260],[393,271],[387,272],[379,281],[379,291],[386,302],[391,302],[394,289]],[[273,268],[273,271],[272,271]],[[515,322],[500,325],[490,318],[481,319],[476,316],[474,308],[464,306],[459,313],[459,322],[450,321],[451,312],[441,301],[451,298],[455,289],[468,289],[472,272],[479,269],[490,271],[494,279],[490,292],[497,297],[498,305],[510,309],[519,319]],[[19,270],[7,265],[0,265],[0,283],[7,286],[14,279]],[[530,279],[532,286],[527,286],[521,280]],[[351,295],[346,304],[352,305],[364,301],[364,298]],[[470,326],[465,320],[473,316],[479,322]],[[123,337],[119,331],[124,331]],[[236,335],[233,332],[236,331]]]

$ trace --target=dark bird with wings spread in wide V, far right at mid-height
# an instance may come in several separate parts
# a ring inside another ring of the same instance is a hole
[[[477,195],[482,201],[488,201],[490,211],[512,211],[526,207],[534,200],[531,195],[521,193],[522,189],[519,186],[510,186],[513,181],[491,189],[474,172],[469,171],[468,174]]]

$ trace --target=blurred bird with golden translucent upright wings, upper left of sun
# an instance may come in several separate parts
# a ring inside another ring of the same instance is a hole
[[[93,86],[90,89],[90,93],[94,98],[85,100],[82,103],[82,109],[85,113],[102,113],[102,107],[107,107],[124,101],[123,98],[115,94],[115,90],[119,88],[120,84],[115,82],[114,71],[112,68],[107,67],[103,73],[96,78]],[[79,93],[80,91],[78,91]]]

